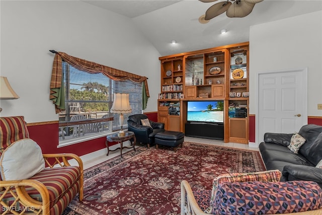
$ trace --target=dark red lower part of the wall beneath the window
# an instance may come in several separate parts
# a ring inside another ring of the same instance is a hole
[[[144,113],[152,121],[157,121],[157,112]],[[101,149],[106,149],[106,137],[100,137],[89,141],[79,142],[66,147],[58,146],[58,121],[28,123],[28,131],[31,139],[37,142],[43,154],[73,153],[78,156],[86,155]],[[116,142],[115,142],[116,144]]]

